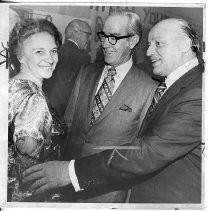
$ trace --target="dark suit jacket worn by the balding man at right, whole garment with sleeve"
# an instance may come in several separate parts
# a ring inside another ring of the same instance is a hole
[[[76,159],[80,197],[118,183],[133,186],[130,202],[201,203],[202,71],[196,66],[169,87],[132,148]]]

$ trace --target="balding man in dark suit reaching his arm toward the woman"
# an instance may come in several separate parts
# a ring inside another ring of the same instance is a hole
[[[136,140],[70,164],[28,169],[24,182],[36,178],[36,193],[72,182],[81,194],[99,194],[120,181],[133,186],[130,202],[201,203],[203,69],[196,57],[198,38],[186,21],[166,19],[151,29],[148,41],[154,73],[166,77],[167,89],[152,103]],[[72,166],[76,179],[69,177]]]

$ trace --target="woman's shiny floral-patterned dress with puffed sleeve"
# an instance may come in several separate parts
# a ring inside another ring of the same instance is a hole
[[[9,80],[8,105],[8,201],[27,201],[33,195],[28,185],[22,184],[23,171],[40,162],[59,158],[57,137],[65,134],[65,126],[56,117],[47,99],[35,83],[29,80]],[[32,137],[35,149],[32,154],[22,154],[17,141]],[[53,201],[59,194],[45,194],[44,201]]]

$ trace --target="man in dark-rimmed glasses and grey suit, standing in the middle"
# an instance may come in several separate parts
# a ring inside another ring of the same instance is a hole
[[[156,89],[156,82],[133,64],[132,52],[142,35],[137,14],[113,12],[106,19],[103,31],[97,34],[105,63],[83,67],[70,96],[65,112],[68,144],[62,153],[68,161],[131,143]],[[78,190],[73,161],[69,173]],[[116,188],[118,185],[122,186],[115,184]],[[94,191],[80,195],[84,200],[78,202],[126,201],[127,191],[103,194],[104,190],[100,190],[101,195],[97,197]],[[69,197],[67,193],[66,196]]]

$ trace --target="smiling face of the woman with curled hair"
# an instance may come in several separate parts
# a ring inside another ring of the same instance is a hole
[[[57,62],[57,46],[49,33],[34,34],[23,42],[20,63],[38,80],[50,78]]]

